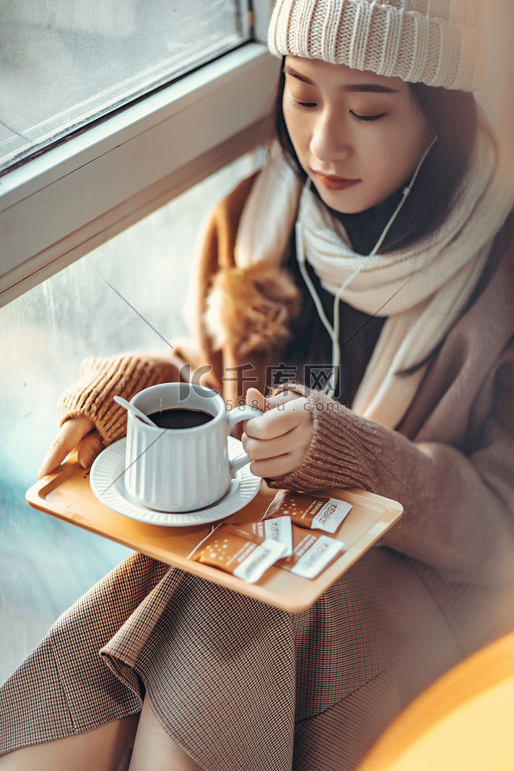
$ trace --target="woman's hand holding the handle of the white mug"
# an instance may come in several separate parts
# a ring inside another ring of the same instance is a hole
[[[265,412],[244,423],[241,441],[252,459],[251,472],[275,479],[297,469],[307,454],[312,437],[308,399],[292,391],[266,399],[260,391],[250,388],[247,404]]]

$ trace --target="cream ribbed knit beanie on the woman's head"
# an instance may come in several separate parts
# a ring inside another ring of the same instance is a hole
[[[277,0],[268,45],[427,86],[475,91],[483,79],[477,0]]]

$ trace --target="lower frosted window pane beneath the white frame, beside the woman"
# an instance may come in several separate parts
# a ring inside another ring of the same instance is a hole
[[[0,682],[128,550],[25,503],[82,359],[166,352],[207,210],[257,168],[249,154],[0,309]],[[104,281],[105,279],[105,281]],[[114,288],[144,318],[106,284]]]

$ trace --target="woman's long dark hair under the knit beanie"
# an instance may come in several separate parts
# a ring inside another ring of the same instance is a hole
[[[284,84],[285,76],[281,72],[275,102],[275,131],[284,156],[304,182],[307,174],[297,159],[284,120]],[[382,244],[381,252],[393,247],[408,247],[437,231],[459,195],[459,187],[469,167],[478,131],[479,110],[472,93],[425,86],[425,83],[408,83],[408,86],[428,126],[437,134],[438,141],[428,153],[405,206]],[[370,233],[371,241],[378,238],[400,196],[401,190],[384,204],[361,214],[334,212],[347,228],[356,251],[362,254],[370,251]],[[373,222],[376,227],[373,227]]]

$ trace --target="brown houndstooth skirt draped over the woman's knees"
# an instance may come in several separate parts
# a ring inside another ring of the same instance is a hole
[[[294,615],[133,554],[0,689],[0,753],[139,712],[146,694],[209,771],[346,771],[459,658],[438,603],[386,548]]]

